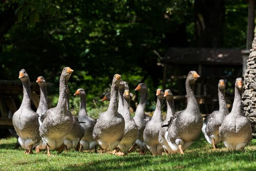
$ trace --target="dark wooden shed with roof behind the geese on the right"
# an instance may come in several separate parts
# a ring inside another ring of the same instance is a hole
[[[226,99],[233,100],[233,83],[242,76],[243,53],[240,49],[169,48],[161,59],[163,88],[175,95],[176,109],[185,107],[185,79],[190,70],[201,76],[195,86],[195,95],[203,114],[218,109],[218,82],[226,81]],[[181,105],[181,106],[180,106]]]

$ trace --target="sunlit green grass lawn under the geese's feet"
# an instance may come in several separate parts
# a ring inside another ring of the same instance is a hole
[[[206,143],[203,135],[193,143],[185,155],[127,156],[99,153],[63,152],[25,155],[22,148],[14,149],[16,139],[0,139],[0,170],[255,170],[256,139],[244,151],[228,151],[221,143],[216,151]]]

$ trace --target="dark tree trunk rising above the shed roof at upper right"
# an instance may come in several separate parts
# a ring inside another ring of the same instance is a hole
[[[223,45],[224,0],[195,1],[196,47],[220,48]]]

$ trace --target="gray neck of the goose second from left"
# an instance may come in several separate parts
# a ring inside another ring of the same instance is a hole
[[[47,86],[39,84],[40,88],[40,100],[36,113],[38,115],[44,114],[48,110],[48,100],[47,100]]]

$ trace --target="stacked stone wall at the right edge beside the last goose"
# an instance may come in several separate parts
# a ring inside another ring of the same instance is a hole
[[[256,28],[255,28],[256,29]],[[252,135],[256,136],[256,33],[252,42],[252,49],[247,60],[244,76],[244,93],[242,97],[244,114],[250,120]]]

